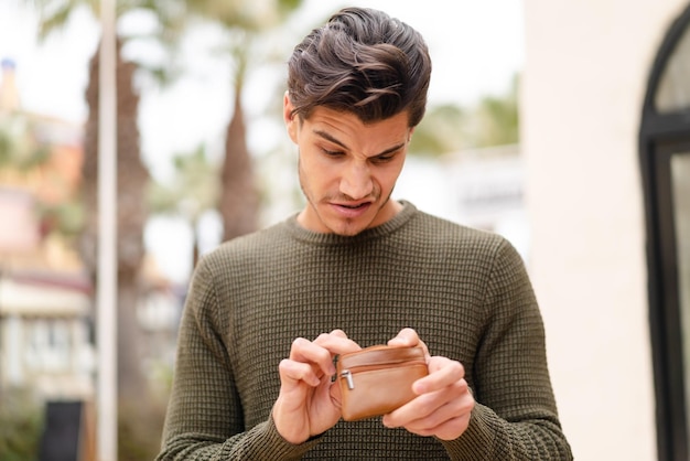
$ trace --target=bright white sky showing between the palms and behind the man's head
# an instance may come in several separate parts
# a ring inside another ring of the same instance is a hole
[[[87,116],[84,99],[87,65],[98,43],[98,24],[88,12],[82,11],[67,28],[39,43],[36,17],[26,3],[0,0],[0,60],[15,62],[22,108],[83,122]],[[305,0],[302,12],[289,26],[293,42],[344,4]],[[349,4],[384,10],[422,33],[433,62],[429,93],[432,106],[449,103],[467,106],[482,96],[505,94],[513,76],[522,68],[521,0],[369,0]],[[154,176],[170,173],[170,158],[175,153],[190,152],[201,143],[222,149],[223,133],[231,115],[229,65],[202,52],[217,43],[216,39],[208,29],[198,30],[185,41],[185,62],[193,71],[173,86],[161,89],[142,83],[142,156]],[[274,93],[267,92],[267,85],[280,84],[283,71],[279,67],[277,73],[276,66],[259,68],[251,76],[245,96],[249,118],[259,117],[266,107],[274,104],[271,100]],[[248,136],[250,148],[260,149],[262,143],[285,135],[257,122]],[[171,234],[173,224],[163,221],[158,226],[154,234]],[[161,258],[170,254],[165,250],[170,243],[150,240],[158,242]],[[185,278],[188,272],[188,267],[172,260],[161,266],[168,267],[176,279]]]

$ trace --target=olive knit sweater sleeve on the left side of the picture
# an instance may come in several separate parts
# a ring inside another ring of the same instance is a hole
[[[227,325],[218,309],[212,271],[202,260],[182,315],[175,376],[157,460],[300,459],[317,440],[291,444],[270,417],[245,430],[223,343],[222,332]]]

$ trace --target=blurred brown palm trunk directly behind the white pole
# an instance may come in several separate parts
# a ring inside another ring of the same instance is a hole
[[[144,187],[148,172],[140,159],[138,110],[139,96],[132,86],[134,64],[123,62],[121,43],[117,44],[117,264],[118,264],[118,386],[119,398],[140,398],[145,389],[141,366],[141,331],[137,322],[140,299],[139,269],[144,256],[145,222]],[[80,238],[80,253],[97,278],[98,236],[98,61],[99,51],[90,61],[86,100],[89,107],[85,136],[84,201],[86,226]]]

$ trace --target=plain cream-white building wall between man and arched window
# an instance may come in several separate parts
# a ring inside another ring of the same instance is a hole
[[[575,459],[656,460],[637,136],[681,0],[525,0],[530,272]]]

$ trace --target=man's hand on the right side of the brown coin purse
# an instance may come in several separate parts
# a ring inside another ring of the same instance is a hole
[[[441,356],[429,356],[427,345],[414,330],[405,329],[388,345],[422,345],[427,351],[429,376],[418,379],[412,389],[418,395],[412,401],[384,416],[388,427],[405,427],[419,436],[435,436],[453,440],[470,425],[474,397],[465,382],[465,368],[460,362]]]

